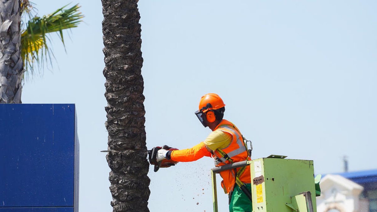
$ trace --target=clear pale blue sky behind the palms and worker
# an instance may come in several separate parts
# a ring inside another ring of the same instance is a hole
[[[34,2],[43,15],[71,0]],[[25,81],[22,100],[76,104],[80,212],[111,211],[100,152],[107,149],[101,1],[74,3],[85,23],[66,36],[67,54],[54,42],[57,64]],[[204,140],[210,130],[193,112],[215,92],[225,118],[253,141],[253,158],[310,159],[323,174],[341,172],[347,155],[350,171],[376,169],[375,8],[374,0],[140,1],[148,148]],[[211,167],[203,158],[151,169],[150,211],[211,211]]]

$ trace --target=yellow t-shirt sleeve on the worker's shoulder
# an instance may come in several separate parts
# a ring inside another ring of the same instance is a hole
[[[207,138],[205,138],[203,143],[212,151],[215,151],[216,149],[223,149],[227,147],[231,141],[231,134],[220,130],[215,130],[211,132],[211,134],[209,134]]]

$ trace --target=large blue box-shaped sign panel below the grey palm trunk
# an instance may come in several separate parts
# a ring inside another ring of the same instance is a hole
[[[74,104],[0,104],[0,144],[0,212],[78,210]]]

